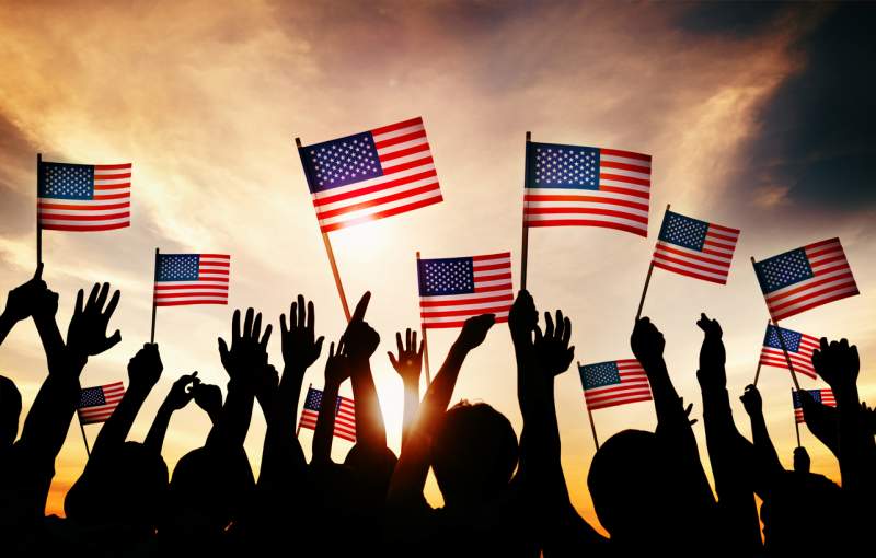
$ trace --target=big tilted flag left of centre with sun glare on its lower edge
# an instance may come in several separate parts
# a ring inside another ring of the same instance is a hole
[[[298,149],[322,232],[441,201],[423,118]]]

